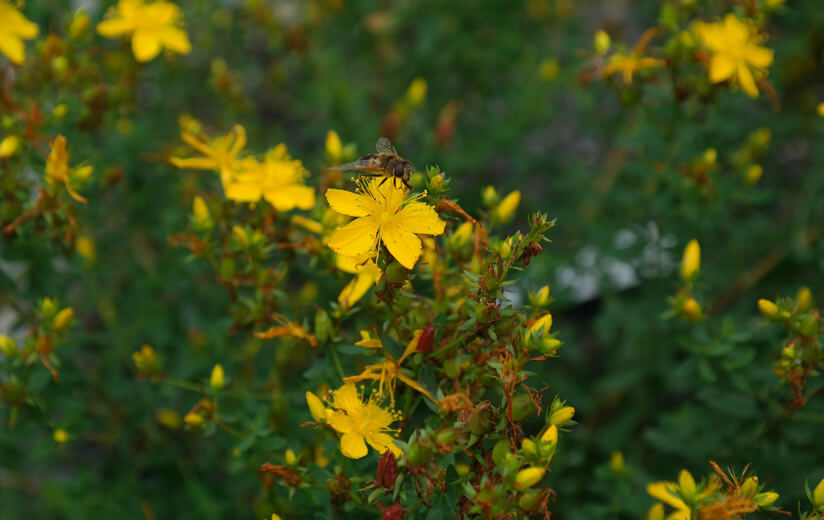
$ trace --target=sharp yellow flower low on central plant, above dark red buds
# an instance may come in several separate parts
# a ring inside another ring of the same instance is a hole
[[[400,414],[381,407],[374,399],[364,401],[352,383],[346,383],[335,390],[328,422],[342,434],[340,451],[350,459],[360,459],[366,455],[368,443],[379,453],[391,451],[396,457],[401,454],[395,446],[392,435],[396,430],[389,427],[400,420]]]

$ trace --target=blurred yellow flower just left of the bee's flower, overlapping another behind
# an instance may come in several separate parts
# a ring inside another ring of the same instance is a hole
[[[270,150],[263,162],[247,160],[243,166],[225,185],[228,199],[257,202],[264,198],[278,211],[315,205],[315,189],[304,184],[308,172],[303,163],[289,157],[286,145]]]

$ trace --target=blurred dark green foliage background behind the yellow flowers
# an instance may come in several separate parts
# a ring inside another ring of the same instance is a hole
[[[300,380],[283,353],[252,361],[260,344],[230,330],[213,271],[169,244],[193,194],[214,186],[165,160],[179,148],[184,113],[213,133],[244,125],[252,149],[285,142],[313,172],[330,129],[358,154],[388,135],[418,168],[439,165],[465,208],[493,185],[523,194],[512,229],[532,211],[557,217],[513,300],[544,284],[555,299],[564,346],[541,377],[579,422],[553,467],[559,518],[638,518],[652,503],[647,482],[681,468],[707,474],[709,460],[752,463],[796,510],[804,481],[824,476],[824,396],[813,379],[806,407],[787,411],[789,391],[773,373],[783,333],[756,301],[803,285],[824,301],[824,4],[791,0],[766,27],[780,108],[729,89],[679,98],[666,70],[629,87],[592,77],[595,31],[631,48],[662,23],[666,3],[187,0],[191,54],[146,65],[126,62],[127,52],[107,58],[104,91],[82,93],[96,105],[23,69],[32,98],[70,104],[54,131],[93,150],[105,174],[82,215],[94,265],[53,261],[59,243],[0,238],[2,326],[14,329],[21,297],[65,295],[79,318],[61,383],[37,374],[42,402],[14,428],[0,407],[0,518],[143,518],[143,504],[157,518],[245,518],[266,500],[254,468],[283,446],[264,430],[304,414],[300,400],[247,399],[258,438],[197,438],[155,419],[159,403],[185,410],[190,394],[134,377],[131,353],[150,344],[182,379],[225,360],[235,371],[274,370],[279,385]],[[736,5],[669,3],[696,4],[706,19]],[[108,6],[82,4],[94,20]],[[25,12],[42,33],[64,35],[76,7],[29,1]],[[416,78],[426,94],[399,118]],[[736,153],[759,129],[770,139],[763,176],[750,184]],[[707,189],[684,168],[710,148]],[[667,315],[692,238],[703,252],[696,292],[706,319],[697,324]],[[71,443],[52,441],[57,425]],[[620,474],[609,466],[616,451]]]

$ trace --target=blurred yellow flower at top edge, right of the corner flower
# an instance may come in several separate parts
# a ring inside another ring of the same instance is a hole
[[[180,8],[171,2],[120,0],[109,14],[107,20],[98,24],[97,32],[106,38],[131,33],[137,61],[153,59],[164,47],[181,54],[192,50],[189,37],[180,28]]]

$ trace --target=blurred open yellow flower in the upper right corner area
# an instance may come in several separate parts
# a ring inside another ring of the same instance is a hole
[[[749,20],[728,14],[720,22],[699,22],[693,30],[712,53],[710,81],[720,83],[734,78],[748,96],[758,97],[756,80],[767,75],[773,60],[773,51],[759,45],[765,38],[758,29]]]

